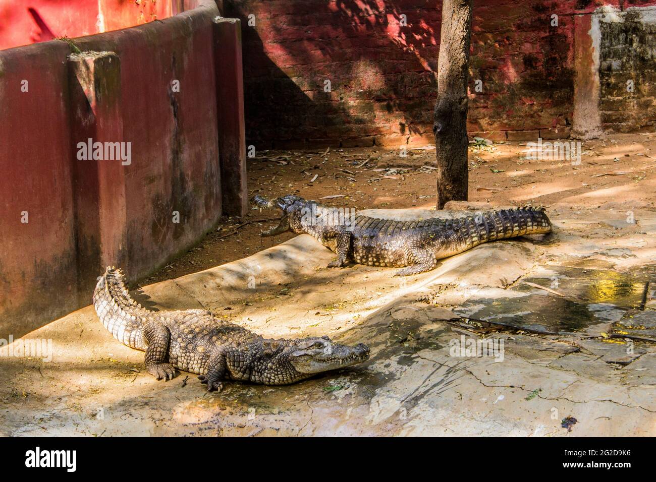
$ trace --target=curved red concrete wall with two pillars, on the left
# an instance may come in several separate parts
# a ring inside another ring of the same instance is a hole
[[[0,50],[0,338],[89,304],[104,266],[138,279],[243,215],[239,21],[186,3]]]

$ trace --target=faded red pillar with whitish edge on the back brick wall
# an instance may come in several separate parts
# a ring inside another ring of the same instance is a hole
[[[598,17],[590,13],[575,15],[573,138],[586,140],[604,135],[599,111],[600,42]]]

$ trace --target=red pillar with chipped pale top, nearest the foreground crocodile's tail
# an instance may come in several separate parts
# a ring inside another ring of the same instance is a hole
[[[69,56],[68,73],[78,287],[81,301],[88,302],[96,277],[106,266],[127,268],[125,169],[129,165],[120,157],[111,159],[118,157],[115,147],[124,153],[128,148],[120,109],[121,63],[113,52],[83,52]],[[100,159],[94,159],[96,142],[103,146]],[[106,143],[112,143],[109,150]]]

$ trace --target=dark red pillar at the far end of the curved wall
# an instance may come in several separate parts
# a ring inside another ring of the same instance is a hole
[[[249,209],[246,187],[246,132],[241,22],[237,18],[214,20],[216,116],[221,165],[222,209],[230,216],[245,216]]]

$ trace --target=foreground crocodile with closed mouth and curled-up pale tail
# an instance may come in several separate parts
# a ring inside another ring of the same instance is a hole
[[[362,343],[328,336],[266,339],[206,310],[153,311],[131,298],[123,271],[108,267],[93,292],[102,324],[119,342],[146,351],[146,371],[171,380],[176,369],[199,375],[209,392],[224,380],[286,385],[369,358]]]

